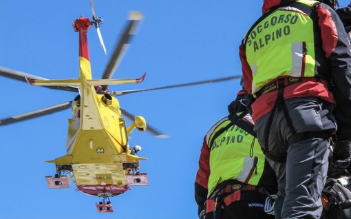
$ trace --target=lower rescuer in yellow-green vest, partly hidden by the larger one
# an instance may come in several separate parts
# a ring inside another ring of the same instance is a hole
[[[244,103],[242,90],[228,105],[230,114],[204,136],[195,179],[199,218],[274,218],[272,209],[265,213],[264,204],[277,193],[277,178],[264,159]]]

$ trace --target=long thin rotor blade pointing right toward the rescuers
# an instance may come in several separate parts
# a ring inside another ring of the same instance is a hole
[[[187,86],[192,86],[192,85],[201,85],[204,83],[216,83],[216,82],[221,82],[221,81],[229,81],[229,80],[234,80],[234,79],[240,79],[242,76],[228,76],[220,79],[211,79],[211,80],[206,80],[206,81],[197,81],[197,82],[192,82],[192,83],[182,83],[178,85],[169,85],[169,86],[164,86],[164,87],[154,87],[154,88],[149,88],[149,89],[140,89],[140,90],[125,90],[125,91],[120,91],[120,92],[110,92],[109,94],[111,96],[120,96],[124,94],[131,94],[131,93],[137,93],[137,92],[147,92],[151,90],[163,90],[163,89],[169,89],[169,88],[175,88],[175,87],[187,87]]]

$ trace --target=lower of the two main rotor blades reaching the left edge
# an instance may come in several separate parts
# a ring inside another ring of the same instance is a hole
[[[60,103],[58,105],[53,105],[51,107],[43,108],[41,110],[35,110],[35,111],[28,112],[25,114],[19,114],[17,116],[3,118],[3,119],[0,119],[0,125],[8,125],[10,123],[17,123],[17,122],[25,121],[25,120],[28,120],[31,118],[45,116],[47,114],[53,114],[54,112],[60,112],[63,110],[67,110],[68,108],[71,107],[71,105],[72,105],[72,101],[68,101],[65,103]]]

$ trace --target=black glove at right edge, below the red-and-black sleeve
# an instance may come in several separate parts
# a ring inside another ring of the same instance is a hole
[[[339,178],[349,176],[348,167],[351,163],[351,141],[341,140],[332,153],[332,162],[329,165],[328,176]]]

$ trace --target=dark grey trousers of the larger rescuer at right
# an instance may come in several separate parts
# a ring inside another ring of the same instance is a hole
[[[274,113],[272,117],[266,114],[255,124],[260,145],[264,147],[268,142],[270,152],[286,156],[286,163],[267,158],[275,170],[281,195],[276,201],[276,218],[319,219],[330,140],[319,138],[317,133],[336,129],[333,106],[314,97],[289,98],[285,103],[288,115],[279,105],[270,113]],[[290,117],[290,125],[287,117]],[[268,124],[272,125],[268,127]],[[295,138],[295,133],[316,133],[316,136],[300,139]]]

